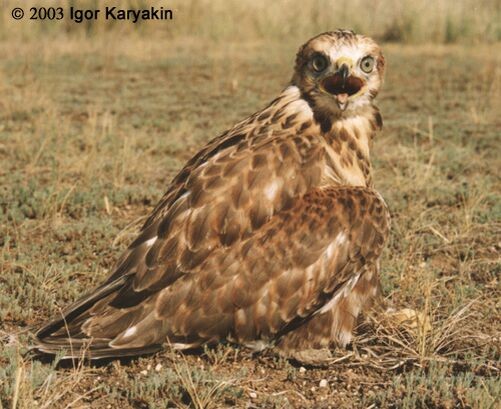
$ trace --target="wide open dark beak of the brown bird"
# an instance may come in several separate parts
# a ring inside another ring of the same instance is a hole
[[[351,74],[352,62],[345,58],[340,58],[337,62],[337,70],[328,75],[322,81],[322,88],[334,96],[336,103],[341,111],[348,106],[348,99],[355,95],[362,86],[363,81]]]

